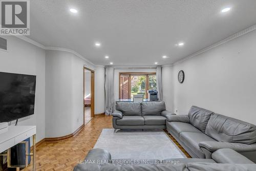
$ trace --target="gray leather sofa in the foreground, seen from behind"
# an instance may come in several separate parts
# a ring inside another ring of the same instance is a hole
[[[233,149],[212,153],[212,159],[131,160],[114,159],[104,149],[92,149],[74,171],[255,171],[256,164]]]

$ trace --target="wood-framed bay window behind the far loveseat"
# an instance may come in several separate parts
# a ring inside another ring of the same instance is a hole
[[[148,90],[156,90],[156,73],[119,73],[119,99],[133,99],[143,94],[148,99]]]

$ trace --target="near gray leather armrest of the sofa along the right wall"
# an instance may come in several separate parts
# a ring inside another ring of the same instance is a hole
[[[256,154],[256,143],[247,145],[242,143],[203,141],[199,143],[199,146],[206,148],[209,152],[215,152],[221,148],[231,148],[237,152],[255,151],[255,154]]]

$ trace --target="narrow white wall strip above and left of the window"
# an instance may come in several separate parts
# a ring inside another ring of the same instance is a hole
[[[115,69],[114,71],[114,92],[115,101],[119,100],[119,73],[120,72],[156,72],[156,69]]]

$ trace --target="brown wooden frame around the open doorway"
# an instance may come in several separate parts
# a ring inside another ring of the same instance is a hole
[[[95,101],[95,92],[94,92],[94,86],[95,86],[95,79],[94,79],[94,70],[91,70],[91,69],[89,69],[89,68],[87,68],[87,67],[83,67],[83,124],[84,124],[84,93],[85,93],[85,90],[84,90],[84,88],[85,88],[85,84],[84,84],[84,71],[85,70],[88,70],[88,71],[90,71],[91,72],[91,118],[93,118],[94,116],[95,116],[95,113],[94,113],[94,105],[95,105],[95,103],[94,103],[94,101]]]

